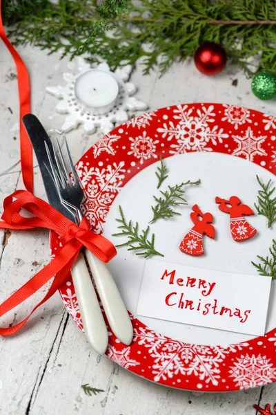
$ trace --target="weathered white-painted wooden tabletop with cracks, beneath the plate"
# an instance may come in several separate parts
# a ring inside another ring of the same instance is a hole
[[[60,61],[59,54],[48,56],[47,50],[41,52],[31,47],[19,48],[19,53],[30,73],[32,112],[46,129],[60,129],[64,116],[55,112],[57,100],[45,88],[64,84],[62,74],[74,71],[74,62]],[[20,158],[19,102],[14,64],[3,44],[0,54],[0,172],[3,172]],[[139,87],[137,98],[147,102],[150,109],[184,102],[225,102],[275,114],[275,100],[257,100],[250,91],[250,80],[230,64],[217,77],[206,77],[189,59],[173,65],[161,78],[158,70],[143,76],[142,66],[138,65],[131,80]],[[68,133],[75,161],[100,136],[99,132],[87,136],[81,127]],[[19,169],[20,165],[14,170]],[[46,199],[37,167],[34,180],[35,194]],[[20,172],[0,176],[0,202],[22,188]],[[44,230],[11,234],[1,231],[1,234],[0,301],[3,302],[48,263],[49,248],[48,232]],[[34,296],[15,313],[3,317],[1,324],[20,321],[42,295],[45,294]],[[81,389],[85,383],[104,392],[86,396]],[[264,407],[275,401],[276,385],[228,394],[193,394],[134,376],[90,349],[68,317],[58,293],[39,308],[18,335],[0,338],[0,414],[3,415],[253,415],[254,403]]]

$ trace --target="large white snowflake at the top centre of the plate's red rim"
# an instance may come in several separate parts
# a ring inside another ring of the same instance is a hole
[[[177,122],[165,122],[163,127],[157,128],[162,133],[162,138],[168,141],[175,138],[175,142],[170,145],[170,154],[183,154],[187,151],[213,151],[212,148],[206,147],[209,142],[216,145],[222,142],[224,138],[228,138],[228,134],[224,133],[224,129],[217,125],[210,127],[209,123],[214,122],[213,105],[210,107],[202,107],[198,109],[195,116],[192,116],[193,109],[184,105],[179,105],[173,112],[173,118],[179,120]],[[166,117],[165,117],[166,119]],[[173,140],[174,141],[174,140]]]

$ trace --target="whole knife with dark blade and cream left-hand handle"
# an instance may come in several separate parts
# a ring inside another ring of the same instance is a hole
[[[45,142],[53,156],[53,160],[55,160],[55,156],[52,142],[48,137],[48,134],[38,118],[33,114],[23,116],[22,120],[37,156],[37,162],[39,163],[41,176],[50,205],[56,210],[59,210],[59,212],[70,219],[70,221],[75,222],[75,214],[65,208],[61,203],[55,185],[55,179],[51,174]],[[108,331],[82,252],[79,253],[77,261],[75,261],[75,264],[71,269],[71,274],[86,338],[97,353],[105,353],[108,347]]]

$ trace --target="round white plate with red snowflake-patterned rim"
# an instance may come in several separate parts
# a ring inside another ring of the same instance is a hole
[[[267,255],[273,230],[267,228],[264,216],[255,214],[250,216],[250,223],[257,229],[257,236],[235,243],[225,215],[217,210],[215,196],[228,199],[235,194],[255,209],[256,174],[264,182],[276,174],[276,118],[231,105],[183,104],[150,111],[117,127],[77,163],[86,192],[83,208],[95,232],[104,230],[115,244],[124,241],[112,237],[117,232],[119,205],[126,219],[138,221],[141,229],[147,225],[152,195],[158,194],[155,171],[159,156],[166,159],[169,170],[164,187],[201,178],[200,186],[187,187],[188,205],[179,208],[181,216],[157,221],[150,229],[155,232],[155,247],[165,255],[164,261],[256,274],[251,261],[257,255]],[[206,255],[202,257],[190,257],[179,250],[195,203],[204,212],[213,213],[217,230],[215,241],[204,241]],[[53,254],[59,249],[59,241],[53,236],[51,247]],[[132,344],[126,347],[110,331],[110,359],[153,382],[193,391],[233,391],[276,380],[275,284],[271,288],[266,335],[254,338],[137,317],[145,261],[127,248],[119,248],[109,264],[131,313],[135,333]],[[60,294],[82,329],[69,277]]]

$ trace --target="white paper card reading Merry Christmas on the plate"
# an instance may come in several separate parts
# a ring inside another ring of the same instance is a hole
[[[148,259],[137,315],[264,335],[271,277]]]

